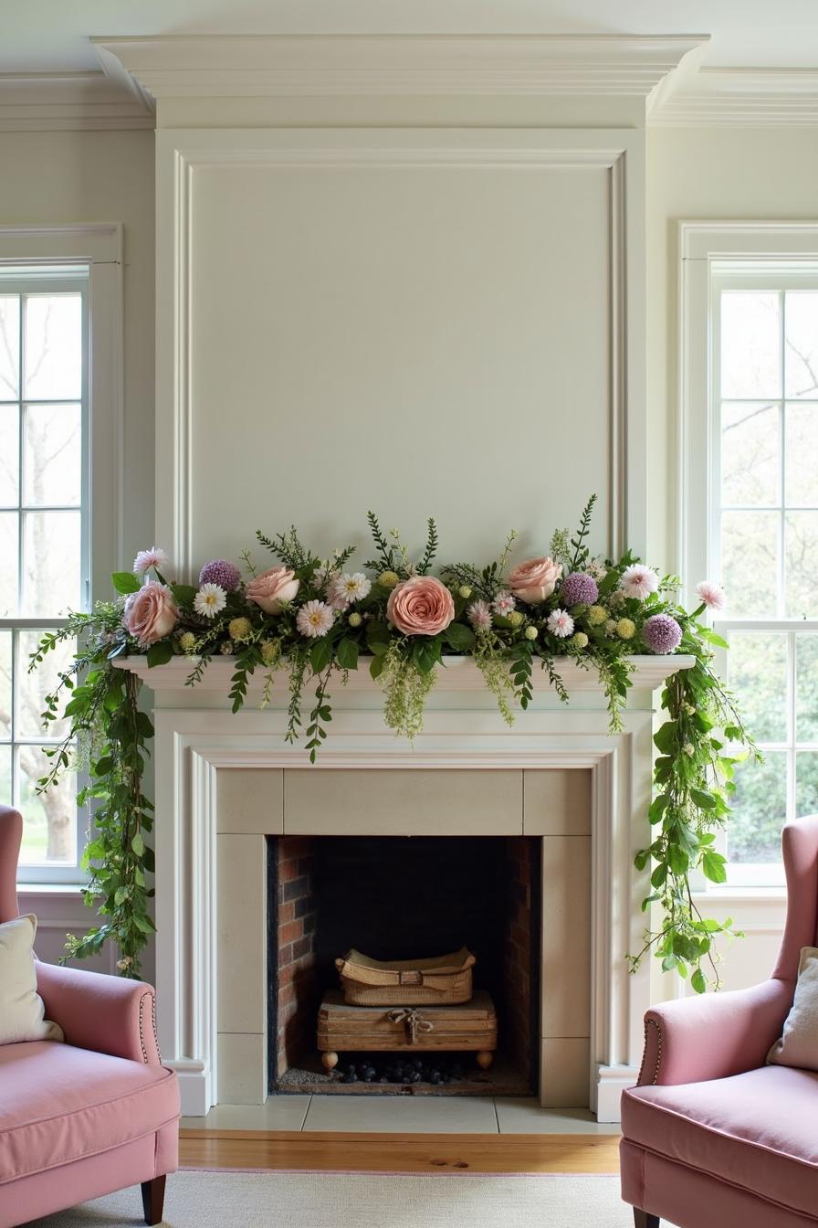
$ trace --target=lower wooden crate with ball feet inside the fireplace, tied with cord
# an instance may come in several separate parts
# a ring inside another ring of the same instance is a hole
[[[462,1006],[348,1006],[340,990],[329,990],[318,1012],[318,1047],[327,1070],[343,1051],[435,1049],[477,1054],[480,1066],[492,1063],[497,1049],[497,1012],[484,990]]]

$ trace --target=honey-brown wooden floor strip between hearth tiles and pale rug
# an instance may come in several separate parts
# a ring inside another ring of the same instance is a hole
[[[183,1130],[183,1168],[618,1173],[614,1135],[385,1135]]]

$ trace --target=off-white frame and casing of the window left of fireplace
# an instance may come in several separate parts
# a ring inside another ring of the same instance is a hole
[[[119,222],[66,226],[0,226],[0,271],[43,271],[76,265],[87,269],[85,324],[87,365],[83,371],[83,542],[82,605],[105,596],[105,578],[121,556],[123,544],[123,226]],[[10,276],[5,285],[11,286]],[[59,279],[60,289],[69,282]],[[42,281],[42,286],[49,282]],[[31,284],[28,286],[31,289]],[[39,286],[38,286],[39,289]],[[97,587],[99,586],[99,587]],[[45,628],[59,619],[4,619],[2,626]],[[16,668],[16,663],[12,668]],[[85,826],[77,820],[76,866],[21,866],[17,880],[26,890],[81,885],[78,862]]]

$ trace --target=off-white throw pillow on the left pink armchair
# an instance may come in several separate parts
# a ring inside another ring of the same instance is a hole
[[[37,917],[0,925],[0,1045],[22,1040],[65,1040],[63,1029],[45,1018],[37,992],[34,935]]]

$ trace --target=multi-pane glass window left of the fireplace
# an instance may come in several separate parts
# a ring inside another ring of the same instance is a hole
[[[90,592],[87,290],[87,266],[0,270],[0,796],[25,817],[21,867],[72,877],[76,782],[36,793],[39,715],[70,651],[33,674],[28,657]]]

